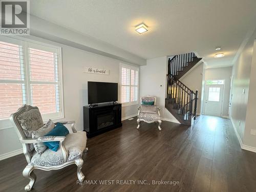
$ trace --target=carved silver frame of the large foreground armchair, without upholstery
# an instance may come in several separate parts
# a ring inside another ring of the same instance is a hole
[[[77,165],[77,177],[78,177],[79,181],[83,182],[84,181],[84,175],[81,172],[81,168],[82,168],[82,165],[83,165],[82,156],[79,159],[76,159],[74,161],[68,161],[69,152],[66,149],[65,145],[63,144],[63,141],[65,140],[66,137],[42,136],[42,137],[38,137],[36,139],[26,138],[26,136],[23,132],[23,128],[21,127],[20,123],[18,122],[17,117],[18,117],[18,115],[24,113],[25,111],[29,111],[31,109],[37,109],[38,110],[38,108],[36,106],[30,106],[30,105],[25,104],[24,106],[22,106],[22,108],[19,108],[16,113],[14,113],[10,116],[10,120],[13,123],[13,126],[16,127],[17,134],[20,136],[19,141],[23,145],[23,153],[24,153],[24,155],[26,157],[26,160],[28,162],[28,165],[23,170],[23,176],[30,180],[29,184],[27,184],[25,186],[25,190],[30,191],[32,189],[35,181],[36,181],[36,175],[33,173],[34,169],[56,170],[56,169],[64,168],[64,167],[66,167],[68,165],[71,165],[71,164],[76,164]],[[62,124],[71,124],[72,132],[73,133],[77,132],[76,129],[75,129],[75,126],[74,126],[75,121],[62,121],[60,123],[62,123]],[[55,165],[55,166],[38,166],[38,165],[34,165],[33,163],[31,163],[31,158],[33,156],[33,151],[29,150],[29,145],[33,144],[33,143],[38,143],[38,142],[53,142],[53,141],[59,141],[59,147],[60,147],[61,154],[62,154],[62,157],[63,157],[63,163],[60,164],[60,165]],[[83,154],[87,151],[88,151],[88,148],[85,148],[85,150],[83,151]]]

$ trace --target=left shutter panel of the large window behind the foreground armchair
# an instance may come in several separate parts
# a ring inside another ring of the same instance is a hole
[[[24,73],[23,46],[0,41],[0,120],[26,103]]]

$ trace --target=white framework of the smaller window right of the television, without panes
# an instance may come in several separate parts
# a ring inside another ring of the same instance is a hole
[[[139,67],[135,67],[132,65],[128,65],[125,63],[120,62],[120,67],[119,67],[119,71],[120,71],[120,102],[122,103],[122,107],[123,106],[132,106],[132,105],[137,105],[139,104],[139,82],[140,82],[140,68]],[[122,85],[122,68],[126,68],[130,70],[130,84],[129,87],[130,88],[130,101],[129,102],[122,102],[122,86],[126,86],[126,85]],[[131,85],[131,70],[135,70],[138,71],[138,84],[137,86],[132,86]],[[131,101],[131,87],[137,87],[138,92],[137,92],[137,101]]]

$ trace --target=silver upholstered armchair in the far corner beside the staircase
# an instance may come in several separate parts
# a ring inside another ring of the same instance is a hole
[[[153,102],[154,105],[144,105],[143,102]],[[160,108],[156,106],[156,97],[151,95],[146,95],[141,97],[141,104],[138,107],[138,119],[137,119],[137,130],[140,127],[140,121],[144,121],[146,123],[158,122],[158,129],[161,131],[161,118],[160,118]]]

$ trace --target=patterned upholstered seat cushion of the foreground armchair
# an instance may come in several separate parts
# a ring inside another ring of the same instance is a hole
[[[64,145],[69,152],[68,161],[74,161],[82,158],[83,151],[86,148],[87,136],[86,132],[77,132],[68,134],[64,140]],[[63,164],[63,156],[60,148],[54,152],[47,148],[47,150],[39,155],[34,152],[31,163],[38,166],[55,166]]]

